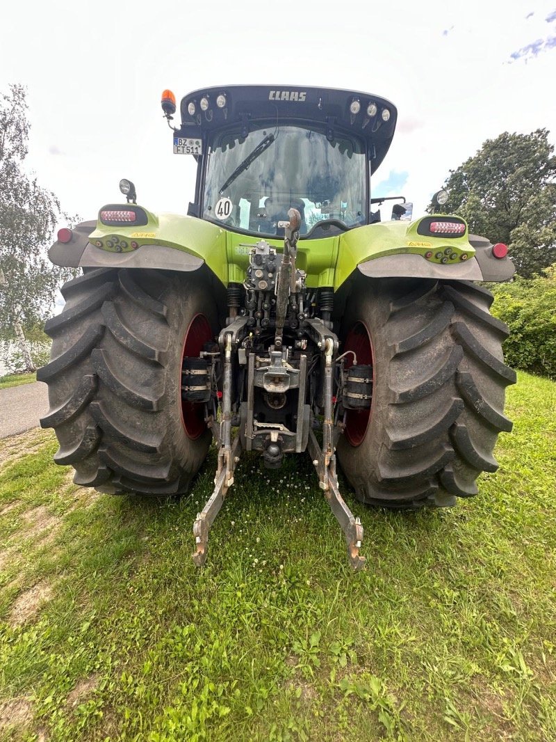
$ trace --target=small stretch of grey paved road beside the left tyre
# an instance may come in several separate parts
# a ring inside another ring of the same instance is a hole
[[[48,389],[42,381],[0,389],[0,438],[39,426],[48,410]]]

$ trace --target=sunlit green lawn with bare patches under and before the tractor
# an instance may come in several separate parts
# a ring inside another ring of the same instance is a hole
[[[0,441],[0,738],[556,739],[556,384],[508,397],[477,498],[388,513],[344,487],[359,574],[308,459],[245,458],[196,571],[214,454],[156,504],[71,484],[50,433]]]

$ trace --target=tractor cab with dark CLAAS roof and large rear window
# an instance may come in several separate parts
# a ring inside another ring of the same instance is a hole
[[[195,91],[180,112],[173,151],[197,160],[191,216],[261,238],[283,236],[292,206],[301,239],[371,223],[369,180],[394,136],[391,102],[250,85]]]

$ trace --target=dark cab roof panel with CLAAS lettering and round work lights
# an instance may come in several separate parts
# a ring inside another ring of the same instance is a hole
[[[258,121],[322,125],[329,139],[334,130],[366,139],[374,172],[394,137],[396,107],[371,93],[292,85],[224,85],[202,88],[182,98],[183,137],[239,125],[247,136]],[[386,119],[386,120],[385,120]]]

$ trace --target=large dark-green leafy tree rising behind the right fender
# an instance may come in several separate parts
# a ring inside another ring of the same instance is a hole
[[[460,214],[474,234],[510,248],[517,273],[529,278],[556,260],[556,157],[549,132],[487,139],[451,170],[444,211]],[[432,207],[428,207],[432,211]]]

